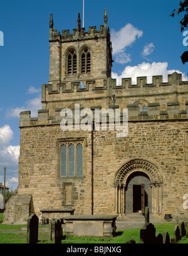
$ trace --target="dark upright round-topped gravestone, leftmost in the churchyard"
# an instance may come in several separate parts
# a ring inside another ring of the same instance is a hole
[[[27,243],[38,242],[38,216],[34,213],[32,213],[28,218],[26,241]]]

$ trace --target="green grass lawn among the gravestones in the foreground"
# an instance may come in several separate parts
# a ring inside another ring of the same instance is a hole
[[[5,225],[3,222],[3,213],[0,213],[0,230],[10,230],[9,233],[0,232],[0,243],[26,243],[26,230],[23,232],[14,233],[13,230],[21,230],[27,225]],[[170,237],[174,237],[175,223],[159,223],[155,224],[156,233],[169,232]],[[39,226],[39,228],[43,228]],[[117,230],[115,237],[112,238],[98,238],[98,237],[66,237],[63,232],[65,240],[61,243],[125,243],[128,240],[135,240],[136,243],[140,242],[140,228],[132,228],[128,230]],[[39,232],[39,243],[51,243],[48,241],[48,232]],[[182,238],[179,243],[188,243],[188,238]]]

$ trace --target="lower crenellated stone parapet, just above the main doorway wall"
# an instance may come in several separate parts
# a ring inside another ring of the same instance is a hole
[[[60,125],[61,120],[64,118],[61,116],[61,110],[63,108],[55,109],[55,115],[50,116],[48,109],[38,110],[38,117],[31,117],[31,111],[23,111],[20,113],[19,127],[29,126],[43,126],[43,125]],[[80,108],[80,111],[83,107]],[[100,123],[102,117],[107,115],[107,123],[109,122],[109,112],[107,109],[103,109],[102,105],[91,106],[89,108],[93,113],[93,121],[95,121],[95,109],[101,110],[100,112]],[[112,109],[115,116],[115,109],[120,109],[119,105],[108,105],[108,109]],[[157,103],[149,103],[147,109],[140,111],[139,104],[127,104],[128,109],[128,121],[142,122],[142,121],[160,121],[160,120],[185,120],[188,119],[188,101],[182,104],[181,102],[167,102],[167,109],[164,110],[164,106]],[[106,112],[107,111],[107,112]],[[73,112],[73,124],[75,124],[74,110]],[[80,115],[80,122],[87,116]],[[123,121],[123,109],[120,109],[120,121]],[[98,120],[98,119],[97,119]]]

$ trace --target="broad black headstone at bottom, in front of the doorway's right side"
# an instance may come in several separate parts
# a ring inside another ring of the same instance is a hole
[[[155,243],[155,227],[152,223],[140,229],[140,243]]]

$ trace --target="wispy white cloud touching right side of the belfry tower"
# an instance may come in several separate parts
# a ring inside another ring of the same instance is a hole
[[[128,23],[119,31],[111,30],[113,56],[118,63],[125,64],[130,61],[130,55],[125,53],[126,47],[132,45],[137,38],[142,36],[143,31]]]

